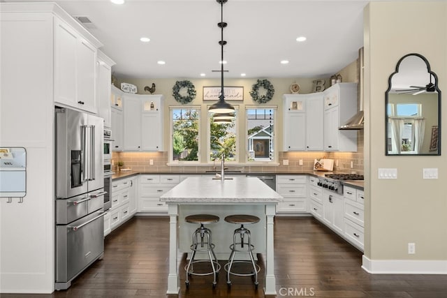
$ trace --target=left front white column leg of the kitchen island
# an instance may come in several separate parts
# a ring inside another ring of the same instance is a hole
[[[178,205],[169,204],[169,274],[168,274],[168,290],[166,294],[178,294],[179,274],[177,266],[177,214]]]

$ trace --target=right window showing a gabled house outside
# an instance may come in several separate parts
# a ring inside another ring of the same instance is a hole
[[[246,107],[247,161],[277,161],[276,107]]]

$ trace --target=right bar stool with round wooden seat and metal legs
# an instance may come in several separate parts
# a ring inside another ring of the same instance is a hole
[[[259,267],[259,265],[257,265],[254,262],[254,257],[253,257],[254,245],[251,244],[250,230],[247,230],[247,228],[245,228],[244,225],[258,223],[259,218],[258,218],[258,216],[253,216],[253,215],[235,214],[235,215],[226,216],[225,221],[227,223],[235,223],[237,225],[240,225],[240,228],[237,228],[233,232],[233,244],[230,245],[230,250],[231,250],[230,258],[228,260],[228,263],[226,263],[226,265],[224,265],[224,267],[223,267],[225,269],[225,271],[227,272],[226,283],[227,283],[228,287],[231,286],[230,274],[233,274],[236,276],[253,276],[254,277],[254,285],[257,289],[258,288],[258,272],[261,270],[261,267]],[[237,239],[237,237],[239,239]],[[241,260],[241,261],[236,260],[235,261],[234,259],[235,259],[236,253],[248,253],[250,260],[249,261],[246,261],[246,260]],[[237,273],[237,272],[231,271],[231,267],[235,263],[249,263],[253,267],[253,269],[252,269],[253,271],[251,271],[250,273]]]

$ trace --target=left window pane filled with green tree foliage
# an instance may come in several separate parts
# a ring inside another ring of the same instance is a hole
[[[198,109],[173,109],[173,161],[198,161]]]

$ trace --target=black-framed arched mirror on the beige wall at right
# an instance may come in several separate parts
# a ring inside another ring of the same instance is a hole
[[[441,155],[441,91],[420,54],[397,62],[386,91],[386,155]]]

